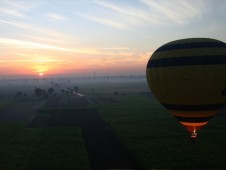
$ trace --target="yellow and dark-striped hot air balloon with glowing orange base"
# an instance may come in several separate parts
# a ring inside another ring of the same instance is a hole
[[[226,103],[226,44],[189,38],[159,47],[147,63],[148,85],[191,138]]]

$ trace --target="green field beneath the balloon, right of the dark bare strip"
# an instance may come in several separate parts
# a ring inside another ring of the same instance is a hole
[[[99,106],[143,169],[226,168],[225,117],[216,117],[192,143],[185,128],[155,99],[143,95],[118,97]]]

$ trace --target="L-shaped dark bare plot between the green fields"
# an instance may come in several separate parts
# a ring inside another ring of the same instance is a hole
[[[34,122],[31,124],[35,127]],[[134,158],[95,109],[55,110],[47,126],[80,126],[92,169],[138,169]]]

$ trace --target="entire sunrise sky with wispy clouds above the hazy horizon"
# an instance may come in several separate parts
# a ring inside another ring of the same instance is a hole
[[[181,38],[226,42],[225,0],[0,0],[0,76],[145,75]]]

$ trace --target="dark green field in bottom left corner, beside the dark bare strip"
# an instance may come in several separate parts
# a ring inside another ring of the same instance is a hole
[[[26,128],[0,122],[0,169],[90,169],[77,127]]]

